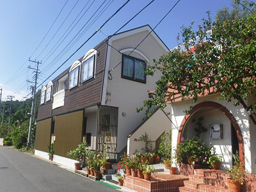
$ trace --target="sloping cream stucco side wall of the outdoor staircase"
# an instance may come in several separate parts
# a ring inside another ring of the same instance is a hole
[[[168,112],[170,106],[168,106],[164,111]],[[164,115],[163,111],[160,109],[154,113],[148,120],[141,125],[141,127],[134,132],[131,137],[127,140],[127,154],[133,154],[136,150],[142,152],[141,148],[145,148],[145,143],[143,141],[134,141],[138,140],[140,136],[145,135],[145,132],[148,134],[148,138],[153,141],[156,141],[163,132],[169,132],[172,125],[170,120]],[[153,143],[153,147],[156,147],[156,143]]]

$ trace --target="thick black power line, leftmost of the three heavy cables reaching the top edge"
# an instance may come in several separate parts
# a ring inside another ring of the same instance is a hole
[[[79,51],[94,35],[96,35],[96,33],[98,33],[98,31],[101,29],[101,28],[103,28],[108,22],[109,22],[109,20],[111,20],[118,12],[120,12],[120,10],[122,10],[122,8],[124,8],[124,6],[127,4],[127,3],[129,3],[129,1],[131,1],[131,0],[127,0],[122,6],[120,6],[120,8],[118,8],[118,10],[116,10],[116,12],[115,13],[113,13],[113,15],[111,15],[111,17],[109,17],[109,19],[107,19],[101,26],[100,26],[100,28],[99,29],[97,29],[73,54],[71,54],[68,58],[67,58],[67,60],[65,60],[61,65],[60,65],[60,67],[58,67],[56,70],[54,70],[54,72],[52,72],[52,74],[49,76],[49,77],[47,77],[47,79],[49,79],[57,70],[59,70],[65,63],[67,63],[67,61],[68,60],[70,60],[70,58],[72,58],[72,56],[74,56],[74,54],[76,54],[76,52],[77,51]],[[45,81],[47,81],[47,79],[45,79]],[[43,81],[40,85],[38,85],[36,88],[38,88],[39,86],[41,86],[45,81]],[[30,94],[30,93],[29,93]],[[28,94],[28,95],[29,95]],[[27,96],[28,96],[27,95]],[[27,97],[26,96],[26,97]]]

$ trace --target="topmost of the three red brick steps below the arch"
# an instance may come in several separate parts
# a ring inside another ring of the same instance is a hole
[[[201,177],[208,177],[213,179],[227,180],[229,174],[225,170],[207,170],[207,169],[197,169],[194,171],[195,175]]]

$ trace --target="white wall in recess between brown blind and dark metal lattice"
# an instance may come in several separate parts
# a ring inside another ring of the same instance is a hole
[[[85,113],[86,120],[86,132],[92,133],[91,138],[91,149],[96,149],[96,138],[97,138],[97,112]]]

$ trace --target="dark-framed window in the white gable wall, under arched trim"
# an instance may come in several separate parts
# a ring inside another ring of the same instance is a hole
[[[145,61],[123,54],[122,78],[146,83],[145,69]]]

